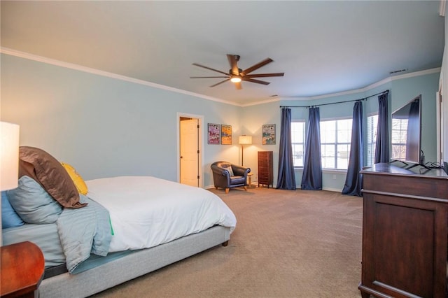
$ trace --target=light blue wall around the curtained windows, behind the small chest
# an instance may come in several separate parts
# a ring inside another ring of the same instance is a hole
[[[404,105],[419,94],[422,95],[422,150],[425,152],[426,162],[436,160],[436,134],[435,134],[435,92],[438,88],[438,80],[440,73],[430,73],[422,76],[415,76],[411,78],[400,78],[388,80],[386,83],[374,87],[365,92],[356,92],[352,94],[344,94],[339,96],[325,97],[322,99],[312,100],[281,100],[275,103],[260,104],[258,106],[248,106],[244,108],[244,119],[253,127],[261,127],[262,124],[267,124],[269,121],[276,123],[277,127],[277,141],[279,141],[281,111],[280,106],[311,106],[328,104],[342,101],[351,101],[356,99],[363,99],[370,97],[372,94],[389,90],[389,113],[396,108]],[[351,117],[353,114],[353,102],[330,104],[320,106],[321,120]],[[363,101],[363,111],[365,115],[370,113],[377,113],[378,111],[378,97],[370,97]],[[307,108],[292,108],[293,120],[308,120]],[[247,123],[245,124],[247,125]],[[260,142],[261,143],[261,142]],[[270,147],[270,146],[269,146]],[[268,150],[268,146],[258,146],[256,149]],[[274,161],[278,161],[279,147],[272,146],[274,150]],[[246,155],[245,155],[246,156]],[[244,157],[246,159],[246,157]],[[253,164],[256,164],[254,159]],[[255,169],[255,168],[254,168]],[[278,173],[278,165],[274,164],[274,185]],[[342,190],[345,183],[346,173],[344,171],[324,170],[323,171],[323,188],[326,190]],[[302,169],[295,171],[297,187],[300,187],[302,181]]]

